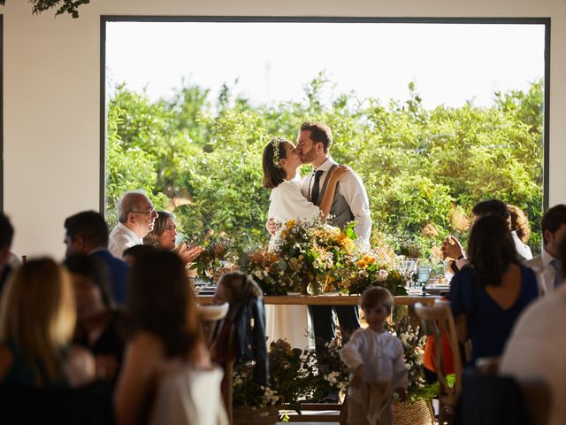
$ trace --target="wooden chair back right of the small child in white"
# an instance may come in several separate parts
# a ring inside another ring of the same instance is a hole
[[[415,313],[420,319],[424,333],[432,336],[434,339],[434,352],[432,353],[432,361],[436,368],[439,379],[439,423],[444,421],[450,423],[451,417],[455,411],[455,405],[462,391],[462,358],[460,357],[460,348],[456,337],[456,329],[454,317],[450,311],[450,305],[447,301],[437,299],[434,305],[415,305]],[[445,364],[448,359],[443,350],[442,339],[447,338],[450,346],[452,364],[455,373],[454,384],[447,383],[447,375],[445,373]]]

